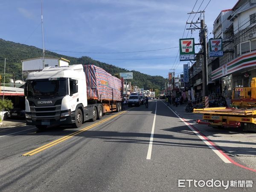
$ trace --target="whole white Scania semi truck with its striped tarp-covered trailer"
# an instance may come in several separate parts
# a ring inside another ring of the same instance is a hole
[[[73,125],[101,119],[104,113],[121,111],[121,80],[95,65],[45,67],[29,73],[26,124],[45,129],[48,125]]]

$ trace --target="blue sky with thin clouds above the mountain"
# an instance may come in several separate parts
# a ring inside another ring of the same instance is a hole
[[[210,33],[221,10],[232,9],[236,2],[43,0],[44,47],[58,50],[53,52],[63,55],[89,56],[128,70],[167,78],[169,69],[175,68],[178,74],[183,71],[183,64],[187,63],[177,62],[176,55],[178,40],[182,38],[189,17],[187,13],[192,11],[193,6],[196,12],[198,9],[203,10],[209,3],[205,9],[205,23]],[[1,0],[0,12],[0,38],[42,48],[41,0]],[[191,15],[189,21],[193,17]],[[196,15],[193,21],[198,17]],[[196,43],[198,32],[196,30],[192,34]],[[208,38],[212,38],[209,33]],[[186,31],[184,38],[187,35],[190,37],[191,33]],[[137,52],[155,49],[163,50]]]

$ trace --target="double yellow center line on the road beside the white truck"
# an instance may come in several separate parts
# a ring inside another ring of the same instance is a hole
[[[58,143],[61,143],[61,142],[65,141],[65,140],[68,140],[68,139],[70,139],[71,137],[73,137],[73,136],[75,136],[75,135],[77,135],[77,134],[80,134],[80,133],[83,132],[83,131],[87,131],[88,129],[93,128],[93,127],[95,127],[96,125],[102,124],[103,122],[106,122],[106,121],[108,121],[108,120],[110,120],[110,119],[113,119],[114,117],[119,116],[119,115],[121,115],[122,113],[125,113],[125,112],[126,112],[126,111],[122,111],[122,112],[120,112],[120,113],[118,113],[118,114],[116,114],[116,115],[113,115],[113,116],[111,116],[111,117],[108,117],[107,119],[104,119],[104,120],[102,120],[102,121],[96,122],[96,123],[94,123],[93,125],[90,125],[90,126],[88,126],[88,127],[86,127],[86,128],[83,128],[83,129],[81,129],[81,130],[79,130],[79,131],[74,132],[73,134],[69,134],[69,135],[67,135],[67,136],[65,136],[65,137],[61,137],[61,138],[58,139],[58,140],[55,140],[55,141],[53,141],[53,142],[51,142],[51,143],[48,143],[48,144],[43,145],[43,146],[41,146],[41,147],[39,147],[39,148],[36,148],[36,149],[34,149],[34,150],[32,150],[32,151],[29,151],[29,152],[23,154],[22,156],[31,156],[31,155],[37,154],[37,153],[39,153],[40,151],[44,151],[44,150],[47,149],[47,148],[50,148],[50,147],[52,147],[52,146],[54,146],[54,145],[57,145]]]

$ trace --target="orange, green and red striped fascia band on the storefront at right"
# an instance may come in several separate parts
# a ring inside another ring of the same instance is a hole
[[[238,70],[256,66],[256,51],[248,52],[212,71],[212,80],[227,76]]]

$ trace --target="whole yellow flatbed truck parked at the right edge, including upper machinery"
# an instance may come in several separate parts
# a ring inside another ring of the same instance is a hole
[[[193,113],[203,113],[205,120],[198,119],[196,122],[211,127],[240,127],[256,132],[256,78],[250,85],[234,88],[230,107],[194,109]]]

